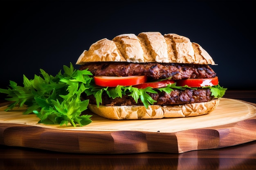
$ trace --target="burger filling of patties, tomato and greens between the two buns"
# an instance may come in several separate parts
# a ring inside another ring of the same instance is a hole
[[[91,85],[82,97],[97,106],[144,105],[147,108],[209,102],[222,97],[226,90],[219,86],[216,73],[207,64],[89,62],[79,68],[85,69],[92,73],[95,82],[99,76],[110,77],[105,78],[106,82],[118,82],[117,77],[129,82],[129,77],[140,75],[147,79],[147,82],[130,85]]]

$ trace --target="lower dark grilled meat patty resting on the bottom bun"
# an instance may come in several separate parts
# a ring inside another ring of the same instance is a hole
[[[154,100],[157,102],[154,105],[180,105],[180,104],[188,104],[188,103],[199,103],[199,102],[209,102],[213,99],[211,96],[211,90],[206,88],[198,88],[195,89],[186,89],[186,90],[178,90],[173,89],[170,94],[165,93],[164,91],[158,91],[155,93],[148,93]],[[85,95],[83,94],[84,99],[89,99],[90,104],[96,104],[96,100],[93,95]],[[141,100],[138,100],[138,103],[129,96],[125,95],[122,98],[117,97],[115,99],[110,98],[106,93],[102,94],[102,104],[105,106],[132,106],[132,105],[141,105],[143,103]]]

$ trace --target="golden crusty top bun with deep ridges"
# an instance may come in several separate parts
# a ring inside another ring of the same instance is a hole
[[[212,64],[211,56],[199,44],[174,33],[121,34],[99,40],[83,51],[76,64],[86,62],[162,62]]]

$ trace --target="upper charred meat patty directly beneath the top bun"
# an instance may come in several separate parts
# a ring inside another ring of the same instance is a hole
[[[216,73],[207,64],[178,63],[131,63],[131,62],[89,62],[79,70],[91,71],[93,75],[132,76],[146,75],[150,79],[212,78]]]

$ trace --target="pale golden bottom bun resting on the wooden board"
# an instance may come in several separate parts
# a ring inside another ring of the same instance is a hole
[[[163,117],[191,117],[210,113],[220,102],[213,99],[209,102],[160,106],[99,106],[89,104],[88,108],[95,114],[108,119],[161,119]]]

